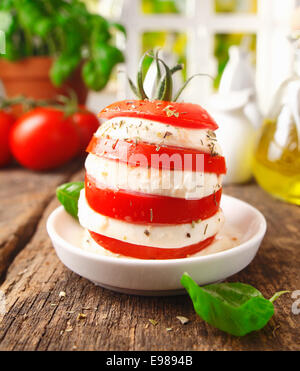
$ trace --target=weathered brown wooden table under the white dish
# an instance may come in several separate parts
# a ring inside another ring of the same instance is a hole
[[[65,268],[45,223],[58,205],[56,186],[81,179],[80,166],[43,175],[17,167],[0,171],[0,290],[6,298],[0,350],[300,350],[300,315],[292,313],[290,295],[275,304],[265,329],[235,338],[205,324],[187,296],[121,295]],[[250,202],[268,221],[258,256],[230,281],[252,284],[266,297],[300,290],[300,208],[274,200],[255,184],[225,192]],[[179,315],[190,322],[182,325]]]

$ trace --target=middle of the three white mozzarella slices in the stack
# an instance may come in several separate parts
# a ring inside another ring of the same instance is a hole
[[[221,188],[222,175],[132,167],[90,154],[85,163],[87,174],[96,186],[124,189],[151,195],[201,199]]]

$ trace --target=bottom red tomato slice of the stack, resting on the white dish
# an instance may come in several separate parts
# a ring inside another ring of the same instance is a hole
[[[144,260],[167,260],[167,259],[183,259],[190,255],[208,247],[215,239],[215,236],[207,238],[205,241],[199,242],[195,245],[186,246],[180,249],[161,249],[156,247],[134,245],[124,241],[119,241],[114,238],[106,237],[89,231],[93,240],[110,252],[121,254],[136,259]]]

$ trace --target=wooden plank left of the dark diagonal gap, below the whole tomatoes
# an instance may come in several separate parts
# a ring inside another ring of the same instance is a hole
[[[43,174],[18,167],[0,170],[0,277],[33,235],[56,186],[79,167],[76,161]]]

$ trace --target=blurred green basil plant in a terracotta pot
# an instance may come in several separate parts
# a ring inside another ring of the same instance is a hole
[[[71,88],[84,103],[88,89],[102,90],[124,60],[113,28],[125,33],[79,0],[1,0],[0,80],[8,97],[53,99]]]

